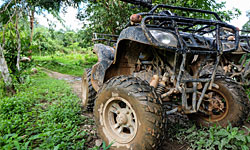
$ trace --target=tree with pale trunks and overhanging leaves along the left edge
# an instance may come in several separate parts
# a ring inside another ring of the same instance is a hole
[[[0,6],[0,71],[7,92],[14,93],[13,79],[22,81],[20,56],[32,47],[34,14],[48,11],[59,20],[59,11],[67,6],[77,6],[81,0],[5,0]],[[28,20],[30,18],[30,20]],[[27,27],[30,22],[30,36]],[[23,23],[25,22],[25,23]],[[23,23],[23,24],[22,24]],[[7,43],[7,44],[6,44]],[[13,78],[14,77],[14,78]]]

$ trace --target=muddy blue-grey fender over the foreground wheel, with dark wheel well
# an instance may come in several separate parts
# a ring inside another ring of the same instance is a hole
[[[92,67],[91,83],[96,91],[111,77],[133,72],[141,50],[150,43],[141,27],[132,26],[120,33],[116,45],[116,49],[104,44],[94,45],[98,62]]]

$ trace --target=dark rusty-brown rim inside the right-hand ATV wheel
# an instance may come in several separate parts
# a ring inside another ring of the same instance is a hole
[[[224,119],[229,110],[228,98],[217,89],[209,90],[206,95],[200,108],[204,114],[202,119],[209,122],[218,122]]]

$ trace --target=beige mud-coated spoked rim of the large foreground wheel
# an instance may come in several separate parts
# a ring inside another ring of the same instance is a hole
[[[102,120],[107,131],[106,136],[116,142],[128,143],[136,136],[136,113],[130,103],[122,97],[112,97],[106,102]]]

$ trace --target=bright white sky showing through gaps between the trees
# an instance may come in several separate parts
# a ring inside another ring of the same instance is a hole
[[[246,11],[250,10],[250,1],[249,0],[218,0],[218,2],[226,1],[226,8],[224,10],[230,10],[232,8],[239,8],[242,12],[241,16],[239,18],[233,19],[231,22],[228,22],[229,24],[232,24],[236,27],[239,27],[240,29],[242,26],[248,21],[248,18],[246,17]],[[3,3],[3,0],[0,0],[0,5]],[[77,9],[73,7],[69,7],[67,9],[67,13],[63,14],[60,13],[61,18],[65,21],[64,25],[72,30],[79,30],[82,28],[84,22],[79,21],[76,18],[77,15]],[[36,20],[39,24],[48,27],[48,21],[54,22],[56,24],[55,29],[64,29],[65,27],[57,21],[51,14],[46,14],[46,17],[42,15],[36,15]]]

